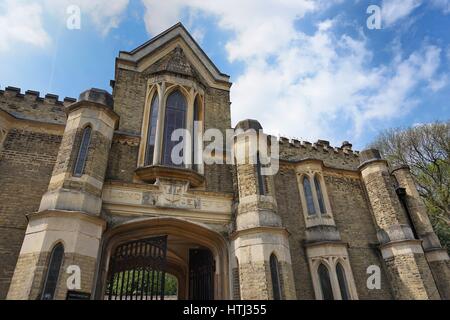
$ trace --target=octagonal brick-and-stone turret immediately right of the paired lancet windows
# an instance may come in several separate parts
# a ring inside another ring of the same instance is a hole
[[[377,226],[380,250],[396,299],[439,299],[422,249],[395,192],[388,165],[377,150],[361,152],[361,175]]]

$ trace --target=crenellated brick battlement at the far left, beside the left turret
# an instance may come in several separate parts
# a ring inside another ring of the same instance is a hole
[[[0,89],[0,109],[24,120],[65,124],[65,108],[76,101],[69,97],[60,100],[58,95],[51,93],[41,97],[38,91],[33,90],[22,93],[16,87]]]

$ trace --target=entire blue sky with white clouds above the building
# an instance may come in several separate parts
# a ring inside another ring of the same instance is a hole
[[[233,125],[362,149],[384,128],[449,119],[450,0],[0,0],[0,87],[110,90],[118,52],[178,21],[231,75]]]

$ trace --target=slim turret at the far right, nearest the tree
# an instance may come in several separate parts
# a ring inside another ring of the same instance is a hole
[[[404,202],[416,229],[418,237],[422,240],[428,264],[439,289],[442,299],[450,299],[450,259],[446,249],[434,233],[425,203],[417,191],[410,169],[402,166],[392,170],[399,188],[404,190]]]

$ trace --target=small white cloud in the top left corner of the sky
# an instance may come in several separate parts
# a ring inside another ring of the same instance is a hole
[[[44,47],[50,37],[42,23],[42,6],[37,3],[7,0],[0,3],[0,52],[16,43]]]

